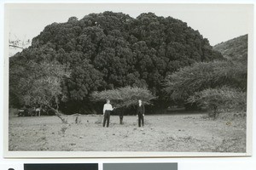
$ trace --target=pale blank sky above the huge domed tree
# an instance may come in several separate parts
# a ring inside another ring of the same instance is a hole
[[[148,12],[172,16],[198,30],[212,46],[245,35],[253,26],[253,5],[248,4],[30,3],[8,4],[5,9],[6,33],[11,40],[31,40],[53,22],[67,22],[71,16],[80,20],[84,15],[106,10],[129,14],[133,18]],[[16,49],[10,53],[15,52]]]

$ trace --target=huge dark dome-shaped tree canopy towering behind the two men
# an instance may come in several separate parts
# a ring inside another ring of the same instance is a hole
[[[10,58],[10,70],[26,69],[19,65],[29,60],[40,63],[52,59],[69,65],[71,76],[61,90],[67,105],[78,108],[85,101],[89,105],[93,91],[125,86],[148,88],[161,98],[161,84],[167,75],[195,62],[223,57],[181,20],[153,13],[134,19],[106,11],[46,26],[32,39],[31,47]],[[10,77],[16,81],[12,73]],[[26,77],[26,73],[20,72],[19,77]],[[10,87],[10,94],[14,88]],[[10,100],[15,102],[12,96]]]

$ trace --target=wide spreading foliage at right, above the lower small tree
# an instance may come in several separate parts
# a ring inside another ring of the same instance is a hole
[[[166,77],[166,92],[172,99],[186,100],[207,88],[230,86],[247,89],[247,67],[232,61],[195,63]]]

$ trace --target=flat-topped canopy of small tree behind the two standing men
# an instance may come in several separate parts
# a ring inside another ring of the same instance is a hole
[[[147,88],[117,88],[102,92],[93,92],[91,99],[94,101],[104,101],[110,99],[115,107],[127,107],[137,104],[138,99],[142,99],[145,105],[150,104],[150,100],[156,97]]]

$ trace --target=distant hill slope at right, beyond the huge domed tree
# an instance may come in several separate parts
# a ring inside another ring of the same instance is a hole
[[[218,43],[213,49],[223,54],[226,59],[247,60],[247,39],[248,35],[236,37]]]

